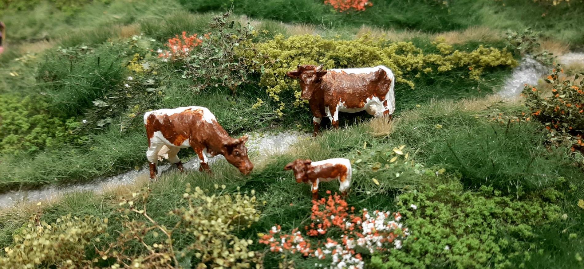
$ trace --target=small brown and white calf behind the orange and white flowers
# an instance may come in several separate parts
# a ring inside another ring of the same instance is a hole
[[[345,158],[333,158],[312,162],[311,160],[296,159],[288,163],[284,170],[293,170],[296,182],[310,183],[312,199],[318,199],[318,183],[339,180],[339,191],[347,194],[351,186],[351,161]]]

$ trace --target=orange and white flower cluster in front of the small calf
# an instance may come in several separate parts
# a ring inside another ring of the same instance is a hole
[[[349,207],[336,193],[312,203],[311,223],[304,227],[305,235],[298,228],[283,234],[280,225],[276,225],[269,234],[260,235],[259,243],[269,245],[275,253],[301,254],[317,258],[321,263],[331,262],[321,267],[364,268],[364,255],[399,249],[402,239],[409,235],[408,229],[399,223],[399,213],[374,211],[370,214],[363,209],[357,216],[353,213],[355,208]],[[311,237],[319,240],[311,243]],[[362,252],[363,249],[367,251]]]

